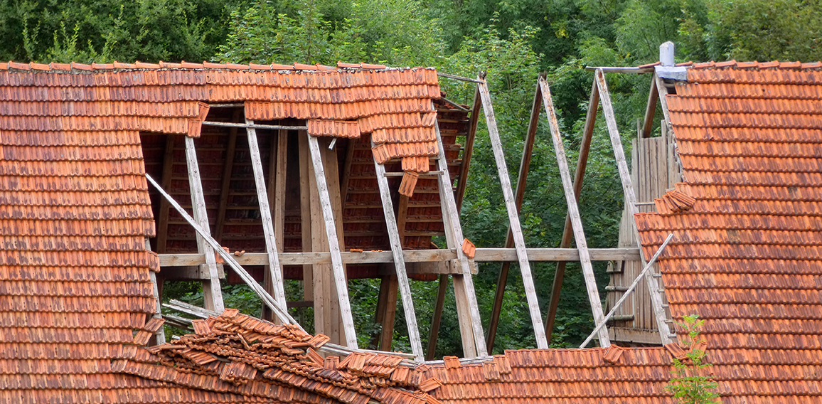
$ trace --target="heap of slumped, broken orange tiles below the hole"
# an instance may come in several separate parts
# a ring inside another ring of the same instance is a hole
[[[439,404],[427,392],[441,386],[421,379],[415,365],[393,355],[355,353],[325,360],[315,349],[328,337],[278,326],[227,309],[198,321],[196,334],[148,350],[132,349],[115,372],[214,392],[282,402]],[[414,392],[417,391],[417,392]]]

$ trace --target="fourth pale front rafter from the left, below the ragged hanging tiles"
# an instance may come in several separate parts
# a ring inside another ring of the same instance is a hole
[[[373,146],[373,143],[372,143]],[[394,203],[391,202],[391,191],[388,188],[386,179],[386,167],[374,160],[376,170],[376,183],[380,188],[380,198],[382,200],[382,212],[386,216],[386,228],[388,230],[388,243],[391,246],[391,253],[394,256],[394,267],[397,272],[399,282],[399,296],[403,300],[405,311],[405,323],[409,329],[409,342],[411,351],[417,360],[423,360],[423,341],[419,337],[419,327],[417,326],[417,314],[413,309],[413,298],[411,286],[409,285],[408,273],[405,272],[405,262],[403,260],[403,246],[399,240],[399,230],[394,217]]]

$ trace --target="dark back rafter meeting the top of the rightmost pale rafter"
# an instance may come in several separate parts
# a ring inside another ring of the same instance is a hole
[[[576,201],[580,202],[580,193],[582,192],[582,182],[585,178],[585,169],[588,167],[588,155],[591,150],[591,140],[593,138],[593,128],[597,123],[597,109],[599,107],[599,91],[597,90],[597,83],[593,82],[591,85],[591,95],[588,100],[588,113],[585,114],[585,125],[582,129],[582,141],[580,142],[580,153],[576,160],[576,171],[574,173],[574,195]],[[560,240],[560,248],[570,247],[570,240],[574,234],[571,231],[570,215],[566,214],[565,226],[562,229],[562,239]],[[593,250],[589,249],[591,253],[591,260],[595,261]],[[533,260],[532,260],[533,261]],[[566,263],[559,262],[556,264],[556,271],[554,271],[554,281],[551,286],[551,300],[548,301],[548,313],[545,316],[545,334],[548,338],[551,337],[554,330],[554,319],[556,318],[556,309],[560,304],[560,292],[562,290],[562,280],[565,278]]]

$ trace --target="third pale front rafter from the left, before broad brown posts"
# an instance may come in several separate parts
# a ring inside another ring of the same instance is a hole
[[[345,343],[349,348],[357,347],[357,336],[354,332],[354,322],[351,314],[351,304],[349,302],[349,288],[345,281],[345,268],[343,259],[339,256],[339,240],[337,238],[334,212],[331,210],[331,200],[326,184],[326,172],[322,167],[322,156],[320,155],[320,145],[316,137],[308,136],[308,150],[311,152],[312,164],[314,165],[314,178],[316,179],[317,192],[320,193],[320,205],[322,216],[326,225],[326,236],[331,253],[331,269],[334,273],[334,281],[339,299],[339,313],[343,320],[343,331]]]

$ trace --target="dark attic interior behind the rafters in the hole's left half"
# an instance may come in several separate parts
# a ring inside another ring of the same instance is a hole
[[[464,146],[459,144],[458,137],[465,139],[469,135],[470,111],[464,106],[441,100],[436,102],[436,109],[450,179],[452,184],[459,184],[468,165],[463,165],[462,156],[465,151]],[[211,105],[205,118],[206,123],[243,123],[243,120],[243,104]],[[305,125],[305,121],[292,119],[256,124],[299,126]],[[193,140],[210,234],[241,260],[243,256],[250,258],[255,254],[266,254],[261,206],[246,135],[245,128],[204,124],[201,136]],[[256,137],[279,252],[328,252],[316,180],[312,174],[311,156],[307,151],[306,133],[257,128]],[[192,211],[190,166],[187,164],[185,138],[184,135],[141,132],[146,173],[157,179],[184,209]],[[319,144],[336,230],[340,246],[344,246],[343,251],[390,251],[370,137],[321,137]],[[435,167],[436,161],[432,161],[430,171],[436,171]],[[420,174],[413,195],[408,197],[398,192],[403,178],[400,161],[386,162],[385,168],[402,248],[438,248],[432,244],[432,237],[445,233],[436,176]],[[461,200],[464,186],[454,189],[456,197]],[[183,220],[156,189],[150,190],[150,197],[156,226],[156,237],[150,239],[152,251],[159,253],[161,257],[198,253],[196,231],[192,226]],[[261,263],[246,262],[243,267],[256,281],[266,285],[266,289],[273,295],[269,272]],[[202,265],[181,265],[176,262],[165,266],[161,259],[161,267],[157,281],[159,295],[162,295],[162,286],[167,281],[209,281],[207,270],[201,269]],[[229,284],[242,283],[229,266],[218,264],[217,267],[220,276],[225,276],[224,281]],[[325,307],[335,308],[335,288],[329,285],[332,280],[328,280],[326,275],[326,286],[313,280],[314,276],[330,272],[329,267],[328,264],[284,264],[284,280],[306,281],[307,285],[313,285],[302,288],[301,299],[292,297],[287,303],[289,307],[312,307],[316,302],[322,302]],[[409,262],[406,269],[410,279],[436,281],[442,267],[440,262]],[[393,303],[382,305],[383,308],[392,306],[391,309],[384,309],[388,315],[381,313],[380,316],[384,318],[384,337],[381,337],[380,347],[390,350],[397,295],[394,264],[348,263],[345,265],[345,275],[347,279],[381,279],[381,301],[390,300],[390,296],[393,296]],[[206,301],[205,306],[206,309],[214,309],[215,302]],[[274,319],[267,308],[262,317]],[[332,341],[344,340],[340,337],[342,326],[339,321],[339,313],[324,315],[315,307],[316,332],[326,333]],[[387,339],[385,336],[388,336]]]

